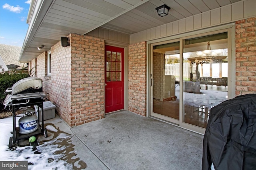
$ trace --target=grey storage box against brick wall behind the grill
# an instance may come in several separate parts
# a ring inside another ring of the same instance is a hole
[[[35,107],[36,115],[38,117],[38,107]],[[55,105],[51,101],[44,102],[44,121],[55,117]],[[39,117],[42,121],[42,109],[39,107]]]

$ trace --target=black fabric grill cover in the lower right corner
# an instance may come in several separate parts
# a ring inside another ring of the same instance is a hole
[[[237,96],[210,110],[202,170],[256,170],[256,94]]]

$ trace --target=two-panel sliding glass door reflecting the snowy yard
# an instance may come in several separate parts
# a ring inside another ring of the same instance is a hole
[[[150,44],[150,113],[204,133],[212,107],[228,100],[228,31]]]

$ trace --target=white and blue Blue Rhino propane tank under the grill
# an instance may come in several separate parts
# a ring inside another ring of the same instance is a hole
[[[36,131],[38,128],[38,119],[34,115],[34,110],[24,111],[24,116],[19,119],[19,132],[20,134],[28,134]]]

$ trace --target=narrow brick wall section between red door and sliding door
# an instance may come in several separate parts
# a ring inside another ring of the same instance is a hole
[[[146,116],[146,42],[128,46],[128,110]]]

